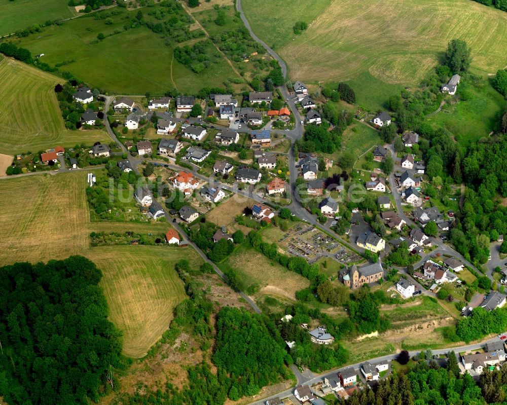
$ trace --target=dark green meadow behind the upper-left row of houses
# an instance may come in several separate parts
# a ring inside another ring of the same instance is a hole
[[[223,86],[224,80],[236,76],[214,48],[210,66],[197,74],[173,60],[174,47],[146,26],[124,31],[126,18],[136,13],[123,10],[111,17],[111,25],[93,15],[80,17],[23,38],[19,45],[32,54],[45,53],[44,61],[50,65],[75,60],[61,69],[104,92],[161,94],[176,88],[192,93],[205,86]],[[120,33],[113,34],[116,30]],[[103,41],[97,41],[99,32],[106,35]]]

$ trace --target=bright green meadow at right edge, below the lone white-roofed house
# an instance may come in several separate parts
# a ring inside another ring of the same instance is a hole
[[[466,146],[499,129],[507,103],[493,89],[488,79],[481,81],[477,87],[466,83],[463,85],[470,90],[472,97],[455,105],[447,103],[439,114],[431,116],[427,121],[435,127],[447,128],[455,134],[460,144]]]

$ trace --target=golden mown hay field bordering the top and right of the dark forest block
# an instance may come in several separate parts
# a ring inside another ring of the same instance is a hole
[[[111,320],[123,331],[123,351],[142,357],[161,337],[174,307],[185,297],[174,264],[191,248],[169,246],[90,247],[90,232],[165,232],[165,224],[91,223],[86,172],[40,174],[0,180],[0,266],[47,262],[82,254],[102,270],[101,286]]]

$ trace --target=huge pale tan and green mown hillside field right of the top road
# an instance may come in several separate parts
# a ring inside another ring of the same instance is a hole
[[[292,27],[296,13],[312,9],[300,7],[301,2],[291,7],[288,1],[282,6],[266,1],[259,13],[259,0],[243,1],[253,29],[268,44],[286,38],[274,28],[281,25],[278,20]],[[442,58],[453,38],[472,48],[477,71],[494,73],[505,65],[505,12],[468,0],[367,0],[361,7],[344,0],[309,18],[314,20],[308,29],[278,49],[292,80],[344,81],[369,72],[384,83],[411,87]],[[377,91],[367,84],[359,82],[359,87]]]

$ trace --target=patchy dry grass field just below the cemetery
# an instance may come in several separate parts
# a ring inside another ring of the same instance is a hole
[[[261,294],[295,299],[295,292],[310,285],[310,281],[268,259],[248,244],[239,246],[219,267],[223,271],[234,269],[245,286],[259,284]]]

